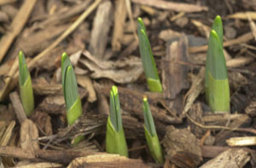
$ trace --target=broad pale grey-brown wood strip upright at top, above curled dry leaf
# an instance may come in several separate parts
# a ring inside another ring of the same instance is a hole
[[[90,36],[90,52],[99,59],[104,59],[105,49],[108,43],[108,32],[112,24],[112,3],[102,2],[93,20],[93,27]]]

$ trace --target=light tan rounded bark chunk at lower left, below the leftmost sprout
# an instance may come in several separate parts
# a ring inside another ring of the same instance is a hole
[[[26,119],[20,125],[20,147],[22,149],[34,151],[39,149],[38,128],[32,120]]]

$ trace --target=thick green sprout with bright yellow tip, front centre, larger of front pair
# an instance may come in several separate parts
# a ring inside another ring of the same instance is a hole
[[[106,151],[128,157],[128,148],[121,118],[119,93],[116,86],[110,90],[110,115],[106,132]]]

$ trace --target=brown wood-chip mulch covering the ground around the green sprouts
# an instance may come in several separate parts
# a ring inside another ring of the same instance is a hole
[[[0,167],[255,167],[255,9],[254,0],[0,1]],[[212,114],[204,96],[207,37],[217,14],[224,26],[230,114]],[[147,28],[162,94],[147,88],[137,17]],[[28,119],[17,83],[20,50],[35,96]],[[73,62],[83,105],[71,127],[61,86],[63,52]],[[129,159],[104,153],[113,84]],[[165,165],[154,162],[146,145],[143,96]],[[70,138],[79,135],[85,140],[71,146]]]

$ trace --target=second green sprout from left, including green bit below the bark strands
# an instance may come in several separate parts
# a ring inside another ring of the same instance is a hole
[[[82,104],[76,76],[67,53],[63,53],[61,56],[61,82],[67,108],[67,124],[73,125],[82,114]],[[78,136],[73,139],[73,145],[80,142],[83,138],[84,136]]]

